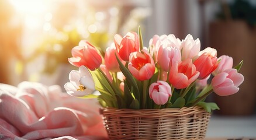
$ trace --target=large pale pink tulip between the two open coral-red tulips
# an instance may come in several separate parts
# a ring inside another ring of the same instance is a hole
[[[172,62],[181,62],[181,51],[177,47],[160,46],[157,60],[162,70],[168,72],[172,66]]]

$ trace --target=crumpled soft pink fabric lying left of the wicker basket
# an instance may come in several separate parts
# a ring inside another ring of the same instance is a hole
[[[0,85],[0,139],[108,139],[96,99],[79,99],[60,86]]]

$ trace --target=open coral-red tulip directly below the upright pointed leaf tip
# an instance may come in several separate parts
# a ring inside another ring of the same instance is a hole
[[[150,79],[155,72],[155,62],[146,50],[131,53],[128,69],[139,81]]]

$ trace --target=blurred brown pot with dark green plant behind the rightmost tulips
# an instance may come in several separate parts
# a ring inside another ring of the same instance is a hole
[[[255,15],[256,7],[249,1],[236,0],[233,3],[222,3],[222,10],[217,19],[209,25],[209,44],[218,50],[219,55],[229,54],[234,64],[241,59],[245,61],[241,73],[246,81],[241,85],[239,94],[219,97],[213,100],[222,110],[219,115],[252,115],[255,114]],[[246,100],[246,103],[244,101]],[[236,104],[234,104],[236,103]]]

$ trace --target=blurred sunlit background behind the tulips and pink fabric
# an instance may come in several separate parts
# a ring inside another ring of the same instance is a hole
[[[141,26],[145,46],[154,34],[182,40],[190,33],[202,49],[216,48],[218,57],[229,55],[234,65],[244,60],[240,91],[209,100],[221,108],[216,115],[254,117],[255,24],[254,0],[0,0],[0,83],[64,85],[75,69],[67,58],[80,40],[106,48],[116,33]]]

